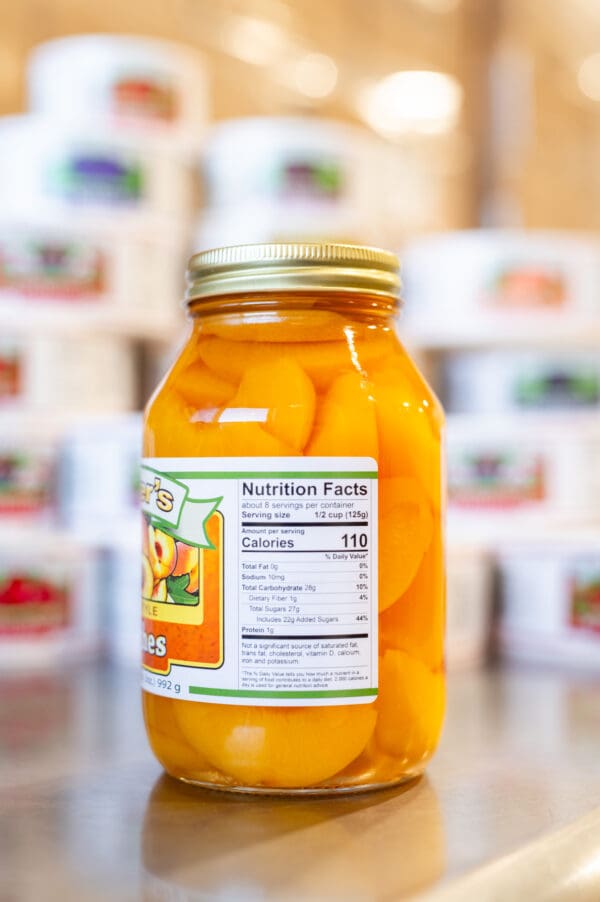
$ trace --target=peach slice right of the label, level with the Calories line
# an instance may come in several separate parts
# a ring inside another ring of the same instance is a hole
[[[416,479],[379,480],[379,610],[412,583],[431,543],[434,520]]]

